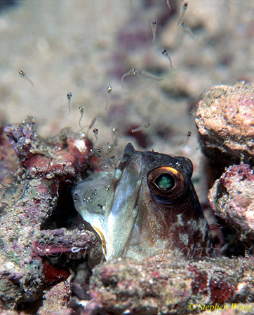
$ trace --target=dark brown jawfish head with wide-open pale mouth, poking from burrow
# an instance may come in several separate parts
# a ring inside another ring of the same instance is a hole
[[[106,260],[181,252],[213,255],[213,241],[184,157],[127,144],[114,175],[99,172],[72,188],[76,210],[98,234]],[[209,253],[212,249],[212,253]]]

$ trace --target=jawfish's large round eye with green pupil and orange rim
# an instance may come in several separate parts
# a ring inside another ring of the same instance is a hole
[[[157,202],[173,204],[185,195],[188,181],[174,167],[158,167],[147,175],[147,185]]]

